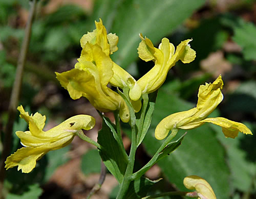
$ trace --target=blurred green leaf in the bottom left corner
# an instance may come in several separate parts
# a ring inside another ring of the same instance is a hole
[[[33,184],[29,186],[29,190],[24,192],[22,195],[16,195],[9,193],[6,199],[37,199],[42,194],[42,189],[38,184]]]

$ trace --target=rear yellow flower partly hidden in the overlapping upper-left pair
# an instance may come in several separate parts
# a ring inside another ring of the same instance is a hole
[[[83,48],[89,42],[93,45],[98,44],[102,51],[105,53],[106,56],[113,54],[117,51],[117,43],[118,43],[118,36],[116,34],[109,33],[106,34],[106,29],[102,24],[102,20],[99,19],[99,22],[95,21],[96,29],[93,32],[88,32],[87,34],[83,35],[80,39],[81,47]],[[83,54],[82,51],[82,54]],[[116,63],[113,62],[113,75],[110,79],[110,84],[119,87],[125,88],[129,87],[130,98],[132,101],[138,101],[141,96],[141,89],[137,84],[136,80],[126,72],[123,68],[118,66]]]

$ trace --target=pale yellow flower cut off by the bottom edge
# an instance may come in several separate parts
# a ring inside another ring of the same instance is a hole
[[[199,176],[188,176],[184,178],[183,184],[188,189],[196,189],[198,199],[216,199],[214,190],[209,183]],[[186,196],[189,196],[189,193]]]

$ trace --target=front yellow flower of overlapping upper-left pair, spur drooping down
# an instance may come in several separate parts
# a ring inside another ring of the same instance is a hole
[[[113,77],[112,68],[113,62],[98,44],[86,43],[74,69],[55,73],[72,99],[86,97],[96,109],[103,112],[119,110],[122,121],[128,122],[130,112],[124,99],[107,86]]]

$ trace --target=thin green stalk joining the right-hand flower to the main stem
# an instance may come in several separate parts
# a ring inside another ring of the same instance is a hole
[[[177,135],[178,133],[178,129],[173,129],[172,133],[164,140],[164,142],[162,143],[162,145],[158,148],[157,152],[155,153],[155,155],[152,157],[152,159],[145,165],[143,166],[140,170],[138,170],[137,172],[133,173],[132,176],[132,180],[136,180],[138,178],[140,178],[141,176],[144,175],[144,173],[150,169],[157,160],[157,157],[159,155],[159,153],[164,149],[164,147]]]

